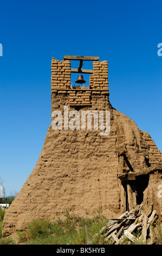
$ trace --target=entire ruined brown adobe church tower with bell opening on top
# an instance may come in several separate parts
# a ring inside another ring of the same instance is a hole
[[[71,68],[70,60],[79,60],[79,68]],[[93,70],[81,69],[85,60],[93,62]],[[90,74],[89,89],[70,88],[72,72]],[[161,220],[162,153],[147,132],[112,107],[106,60],[52,59],[51,113],[63,113],[64,106],[79,113],[110,111],[110,133],[100,136],[93,128],[53,130],[50,125],[33,172],[5,213],[3,233],[12,234],[34,218],[62,217],[66,209],[91,217],[100,205],[104,215],[117,217],[146,197]]]

